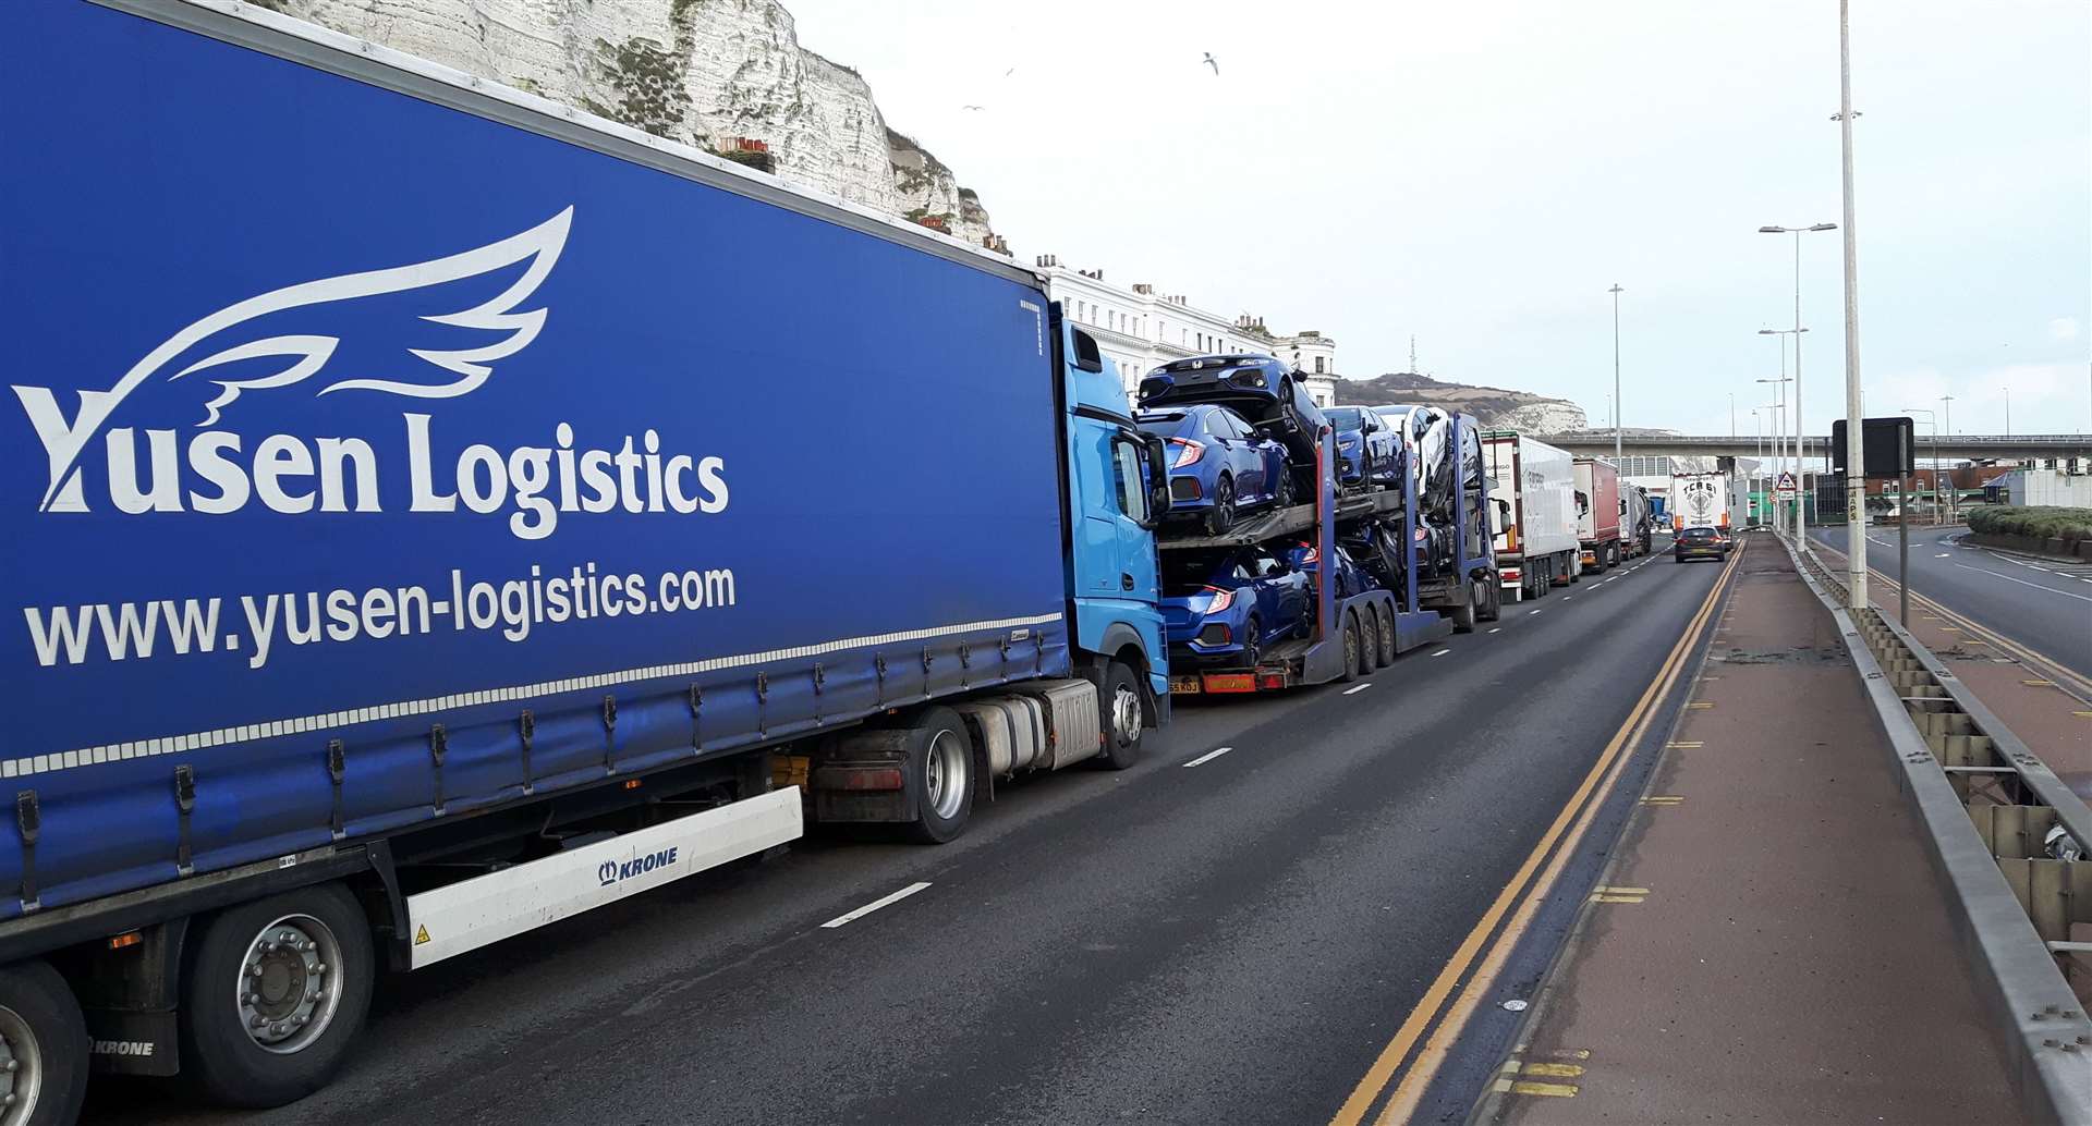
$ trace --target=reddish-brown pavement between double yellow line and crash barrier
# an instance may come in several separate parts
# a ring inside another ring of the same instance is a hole
[[[2021,1122],[1891,758],[1759,543],[1481,1120]]]

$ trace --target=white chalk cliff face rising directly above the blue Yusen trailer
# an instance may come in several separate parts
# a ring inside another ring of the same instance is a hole
[[[843,201],[998,244],[979,196],[887,127],[872,88],[799,46],[778,0],[257,0]]]

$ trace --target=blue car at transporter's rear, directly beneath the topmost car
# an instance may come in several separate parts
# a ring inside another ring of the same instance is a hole
[[[1293,503],[1287,447],[1228,407],[1192,403],[1140,412],[1134,422],[1169,447],[1169,516],[1203,520],[1209,535],[1255,508]]]

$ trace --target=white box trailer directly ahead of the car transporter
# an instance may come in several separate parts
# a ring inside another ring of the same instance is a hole
[[[1513,602],[1575,583],[1575,455],[1517,430],[1485,430],[1490,499],[1498,510],[1496,574]]]

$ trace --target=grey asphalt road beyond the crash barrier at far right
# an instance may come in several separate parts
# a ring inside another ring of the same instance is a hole
[[[2092,564],[1956,543],[1969,529],[1910,529],[1910,589],[2092,679]],[[1812,529],[1845,549],[1845,529]],[[1897,531],[1868,529],[1866,562],[1902,581]]]

